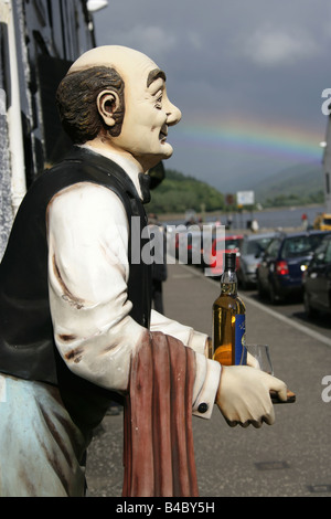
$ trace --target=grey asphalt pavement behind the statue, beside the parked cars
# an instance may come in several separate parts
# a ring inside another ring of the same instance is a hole
[[[185,265],[168,265],[168,274],[164,314],[211,335],[220,284]],[[297,402],[275,405],[275,424],[259,430],[228,427],[216,406],[209,421],[193,417],[200,495],[331,497],[331,402],[321,398],[321,381],[331,375],[330,343],[243,298],[247,342],[270,346],[275,375],[286,381]],[[122,413],[107,415],[88,451],[88,496],[120,496],[121,455]]]

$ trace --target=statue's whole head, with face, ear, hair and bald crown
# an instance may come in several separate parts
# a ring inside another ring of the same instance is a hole
[[[71,66],[57,100],[64,127],[79,134],[77,144],[98,137],[103,146],[134,157],[145,169],[172,155],[168,127],[181,113],[167,96],[164,72],[139,51],[120,45],[87,51]],[[90,114],[99,126],[87,133]]]

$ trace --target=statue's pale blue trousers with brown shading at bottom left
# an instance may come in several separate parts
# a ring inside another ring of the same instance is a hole
[[[0,373],[0,497],[83,497],[85,449],[57,388]]]

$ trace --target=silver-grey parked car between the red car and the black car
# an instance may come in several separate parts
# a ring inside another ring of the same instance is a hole
[[[248,234],[244,237],[238,257],[237,277],[242,288],[256,285],[256,269],[276,232]]]

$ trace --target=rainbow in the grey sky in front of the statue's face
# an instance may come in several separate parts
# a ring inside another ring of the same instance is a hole
[[[201,119],[203,120],[203,119]],[[246,121],[232,118],[224,124],[186,123],[182,120],[173,131],[178,145],[202,147],[222,151],[236,151],[256,156],[269,156],[279,159],[292,159],[321,162],[323,150],[321,133],[305,128]]]

